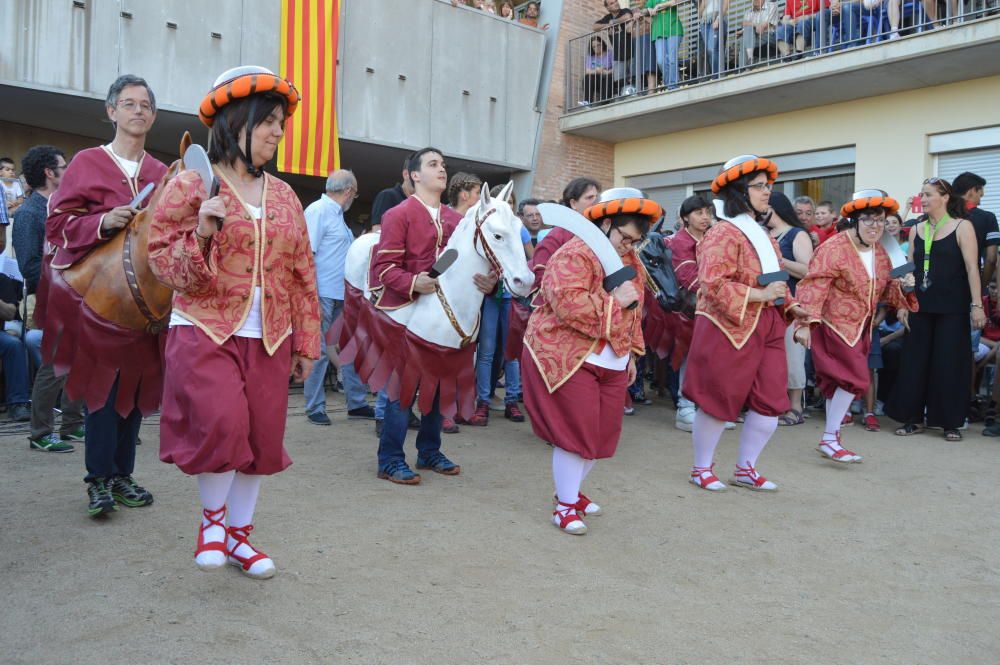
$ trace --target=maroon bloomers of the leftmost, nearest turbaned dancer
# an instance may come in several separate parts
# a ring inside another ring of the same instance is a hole
[[[291,349],[286,338],[269,356],[260,339],[234,336],[220,345],[196,326],[171,328],[160,459],[190,475],[270,475],[287,468]]]

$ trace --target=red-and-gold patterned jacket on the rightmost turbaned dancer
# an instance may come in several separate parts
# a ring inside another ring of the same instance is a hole
[[[916,294],[904,294],[899,280],[890,277],[892,263],[882,246],[872,251],[875,279],[868,276],[848,232],[838,233],[816,250],[809,272],[795,291],[799,304],[809,312],[810,323],[825,324],[848,346],[857,344],[863,334],[871,334],[879,303],[911,312],[919,307]]]

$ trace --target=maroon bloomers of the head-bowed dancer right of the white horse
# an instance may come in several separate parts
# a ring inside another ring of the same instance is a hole
[[[535,436],[584,459],[611,457],[618,449],[628,394],[628,372],[583,363],[550,393],[531,353],[521,353],[524,407]]]

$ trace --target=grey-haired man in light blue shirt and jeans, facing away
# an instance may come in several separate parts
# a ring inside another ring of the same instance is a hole
[[[309,243],[316,261],[316,282],[319,287],[320,311],[323,316],[319,360],[306,379],[306,417],[314,425],[329,425],[326,415],[324,380],[330,363],[326,353],[326,333],[344,310],[344,266],[347,250],[354,234],[344,220],[344,213],[358,197],[358,181],[350,171],[334,171],[326,179],[326,193],[306,208]],[[349,418],[375,418],[375,411],[365,400],[367,389],[354,371],[354,365],[341,367],[344,392],[347,393]]]

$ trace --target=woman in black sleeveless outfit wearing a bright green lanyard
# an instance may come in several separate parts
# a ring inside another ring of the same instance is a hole
[[[962,199],[948,181],[929,178],[920,190],[927,220],[910,229],[910,259],[920,311],[900,321],[910,331],[903,365],[886,404],[886,415],[903,423],[897,436],[940,427],[961,441],[972,382],[972,326],[986,323],[979,282],[979,249]]]

